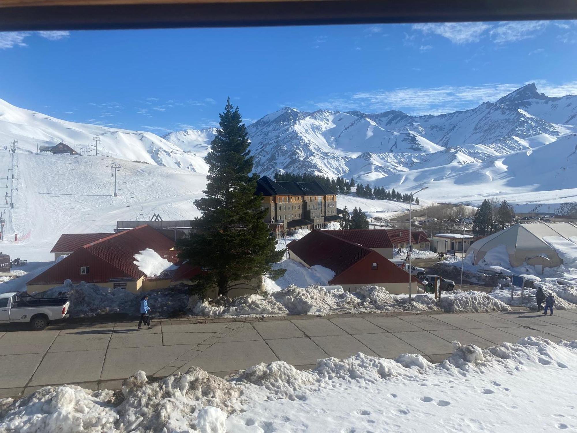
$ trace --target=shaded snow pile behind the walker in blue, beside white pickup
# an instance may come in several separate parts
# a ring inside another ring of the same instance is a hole
[[[153,316],[170,316],[175,312],[183,312],[189,299],[187,288],[151,290],[146,294]],[[125,289],[110,289],[84,281],[74,285],[67,279],[62,286],[53,287],[35,296],[43,298],[66,296],[70,301],[70,317],[90,317],[106,313],[137,316],[143,294],[128,292]]]

